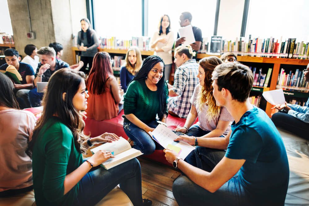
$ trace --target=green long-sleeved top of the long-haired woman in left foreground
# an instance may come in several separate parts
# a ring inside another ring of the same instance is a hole
[[[79,183],[66,195],[64,179],[83,163],[71,130],[52,117],[41,129],[32,152],[32,175],[36,205],[72,205]]]

